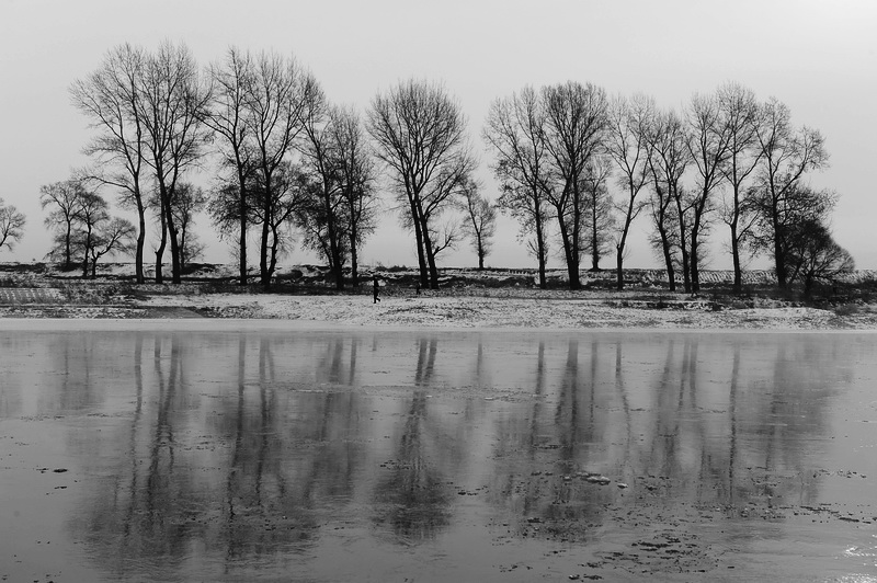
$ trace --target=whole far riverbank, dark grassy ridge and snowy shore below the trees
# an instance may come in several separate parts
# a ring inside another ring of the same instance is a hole
[[[775,294],[764,273],[749,275],[744,294],[731,294],[722,284],[727,274],[710,272],[710,287],[692,296],[669,292],[650,271],[631,271],[623,292],[612,289],[610,273],[588,274],[585,289],[570,292],[538,289],[533,274],[509,270],[445,270],[441,289],[419,290],[413,272],[385,270],[377,272],[380,301],[374,302],[371,286],[337,293],[320,285],[314,267],[288,270],[271,293],[236,286],[228,267],[202,268],[181,285],[135,285],[126,271],[109,265],[98,279],[8,275],[0,327],[9,318],[219,318],[437,329],[877,330],[877,304],[863,284],[842,290],[845,297],[801,301]]]

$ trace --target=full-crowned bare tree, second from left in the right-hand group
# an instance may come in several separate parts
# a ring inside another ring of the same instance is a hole
[[[554,207],[570,289],[581,288],[582,215],[588,163],[602,147],[607,101],[603,89],[567,82],[542,90],[545,149],[551,161],[546,199]]]

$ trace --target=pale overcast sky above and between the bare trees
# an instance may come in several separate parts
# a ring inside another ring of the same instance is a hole
[[[162,39],[185,42],[201,64],[219,59],[230,45],[294,54],[330,100],[363,112],[377,91],[399,80],[442,81],[468,115],[491,197],[497,184],[480,133],[498,96],[525,84],[576,80],[611,94],[647,93],[661,106],[681,108],[694,92],[738,81],[760,100],[785,102],[796,125],[825,136],[831,168],[811,182],[839,192],[835,239],[859,268],[877,268],[872,0],[0,0],[0,197],[27,216],[24,239],[14,252],[0,251],[0,261],[45,255],[50,238],[39,186],[87,162],[80,150],[90,133],[70,105],[70,83],[118,44],[152,50]],[[206,218],[201,222],[207,226]],[[660,264],[645,243],[650,228],[645,216],[635,224],[629,266]],[[726,229],[717,225],[710,236],[714,267],[730,264],[721,248]],[[516,232],[511,219],[501,220],[488,264],[535,266]],[[385,215],[362,260],[414,265],[411,239]],[[206,259],[230,261],[218,242]],[[296,249],[285,263],[312,260]],[[442,263],[477,260],[460,245]],[[557,258],[551,263],[560,265]],[[612,258],[602,264],[612,265]]]

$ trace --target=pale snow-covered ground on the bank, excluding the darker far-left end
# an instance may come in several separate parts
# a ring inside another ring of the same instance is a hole
[[[607,305],[602,299],[497,297],[275,296],[212,294],[152,297],[145,308],[187,308],[231,318],[269,318],[348,325],[436,328],[665,328],[665,329],[877,329],[877,315],[838,316],[805,307],[714,310],[681,302],[663,309]]]

